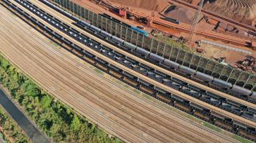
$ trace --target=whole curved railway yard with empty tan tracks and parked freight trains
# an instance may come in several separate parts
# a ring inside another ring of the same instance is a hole
[[[47,0],[0,4],[1,55],[110,135],[124,142],[238,142],[143,93],[256,142],[255,85],[248,90],[166,60]]]

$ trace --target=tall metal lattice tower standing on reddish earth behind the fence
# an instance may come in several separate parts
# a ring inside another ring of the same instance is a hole
[[[200,15],[201,15],[201,11],[202,11],[202,5],[204,4],[205,0],[201,0],[199,6],[197,7],[197,11],[195,13],[195,16],[193,18],[193,22],[191,23],[191,27],[190,27],[190,34],[188,35],[188,43],[189,44],[193,44],[193,36],[195,34],[195,31],[197,29],[197,23],[200,20]]]

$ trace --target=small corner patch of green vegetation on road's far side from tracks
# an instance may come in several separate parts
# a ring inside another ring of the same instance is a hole
[[[13,139],[13,142],[30,142],[29,139],[23,135],[22,130],[18,128],[18,124],[13,121],[13,119],[6,114],[4,109],[0,108],[0,126],[3,130],[0,131],[0,137],[4,139],[5,142],[9,142],[8,137]],[[4,133],[6,135],[4,135]]]

